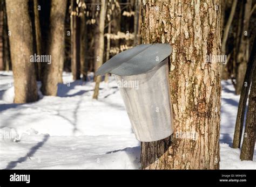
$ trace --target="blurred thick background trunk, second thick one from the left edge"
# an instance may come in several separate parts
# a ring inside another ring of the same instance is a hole
[[[52,0],[50,11],[50,31],[48,39],[48,55],[51,55],[51,63],[45,64],[41,91],[46,96],[57,95],[59,68],[64,62],[65,44],[65,13],[67,0],[59,5],[58,0]]]

